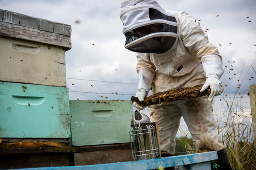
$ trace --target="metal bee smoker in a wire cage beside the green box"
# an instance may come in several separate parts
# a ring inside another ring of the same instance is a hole
[[[135,160],[161,158],[157,124],[137,110],[131,120],[130,139]]]

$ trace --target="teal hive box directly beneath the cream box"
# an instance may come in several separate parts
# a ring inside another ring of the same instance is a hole
[[[68,88],[0,81],[0,138],[70,138]]]

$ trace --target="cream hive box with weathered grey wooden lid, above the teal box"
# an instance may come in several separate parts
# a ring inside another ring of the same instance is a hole
[[[66,87],[71,26],[0,10],[0,81]]]

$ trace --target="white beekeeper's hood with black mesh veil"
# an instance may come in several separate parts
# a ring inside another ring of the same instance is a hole
[[[178,20],[157,0],[124,0],[120,19],[125,48],[138,53],[165,53],[178,39]]]

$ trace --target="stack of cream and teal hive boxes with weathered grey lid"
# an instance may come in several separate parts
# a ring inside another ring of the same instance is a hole
[[[68,141],[71,26],[0,10],[0,138]]]

